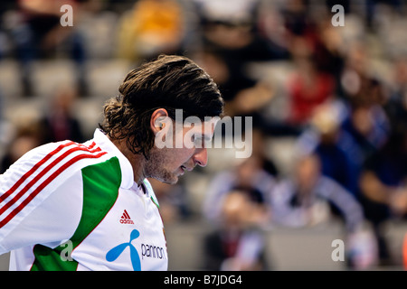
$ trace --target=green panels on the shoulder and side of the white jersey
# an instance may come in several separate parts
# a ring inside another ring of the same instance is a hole
[[[83,205],[80,223],[71,237],[72,247],[77,247],[98,226],[118,199],[121,171],[117,157],[106,162],[83,168]],[[73,190],[74,188],[72,188]],[[62,200],[63,201],[63,200]],[[75,271],[78,263],[66,260],[66,243],[50,248],[35,245],[32,271]],[[65,249],[64,252],[62,252]]]

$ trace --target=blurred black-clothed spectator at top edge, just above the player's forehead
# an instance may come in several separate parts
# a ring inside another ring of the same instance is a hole
[[[252,61],[275,61],[284,51],[260,33],[259,0],[195,0],[201,19],[202,48],[195,57],[219,84],[227,116],[258,117],[273,97],[266,81],[248,70]]]

